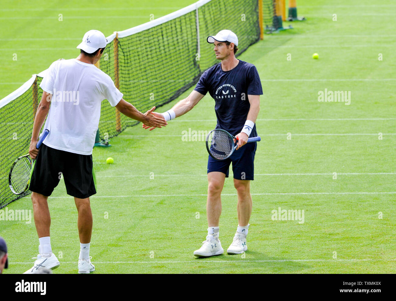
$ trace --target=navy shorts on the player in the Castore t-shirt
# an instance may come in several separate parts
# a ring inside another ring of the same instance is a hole
[[[231,157],[218,161],[209,155],[208,173],[213,171],[223,172],[228,178],[228,171],[232,162],[232,172],[234,179],[254,180],[254,155],[256,153],[257,142],[249,142],[240,149],[235,150]]]

